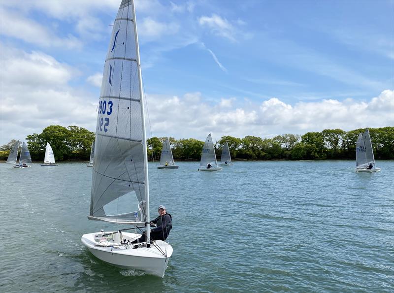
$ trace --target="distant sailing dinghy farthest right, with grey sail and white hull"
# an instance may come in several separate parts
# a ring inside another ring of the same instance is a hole
[[[359,134],[356,143],[356,172],[379,172],[375,165],[369,130]]]

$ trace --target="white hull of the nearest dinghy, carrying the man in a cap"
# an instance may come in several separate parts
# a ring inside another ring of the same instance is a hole
[[[103,233],[111,232],[90,233],[82,235],[81,238],[82,243],[99,260],[118,267],[141,270],[149,274],[164,277],[168,260],[172,255],[171,245],[164,241],[156,240],[155,243],[160,247],[161,251],[152,243],[149,248],[140,247],[134,249],[132,245],[120,244],[119,233],[115,233],[114,239],[109,241],[105,237],[101,237]],[[122,232],[122,238],[127,240],[134,240],[139,236],[140,234]],[[97,246],[98,244],[108,245],[108,247]],[[165,255],[163,255],[162,251]]]

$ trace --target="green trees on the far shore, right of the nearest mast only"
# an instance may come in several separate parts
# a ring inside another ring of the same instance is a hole
[[[229,144],[234,160],[325,160],[355,159],[356,142],[359,133],[365,129],[344,131],[326,129],[321,132],[307,132],[304,135],[282,134],[273,138],[245,136],[237,138],[222,136],[215,144],[217,158],[220,158],[225,142]],[[372,147],[376,159],[394,159],[394,127],[370,128]],[[148,140],[150,159],[160,160],[165,137]],[[169,138],[174,160],[199,160],[203,141],[197,139]]]

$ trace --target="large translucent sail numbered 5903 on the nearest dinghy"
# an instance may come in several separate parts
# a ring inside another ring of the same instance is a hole
[[[123,0],[101,83],[91,220],[137,225],[147,219],[140,87],[132,6]]]

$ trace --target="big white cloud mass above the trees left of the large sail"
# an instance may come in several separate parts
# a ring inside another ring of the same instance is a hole
[[[1,144],[53,124],[95,129],[97,97],[68,85],[76,69],[41,52],[3,45],[0,56]]]

